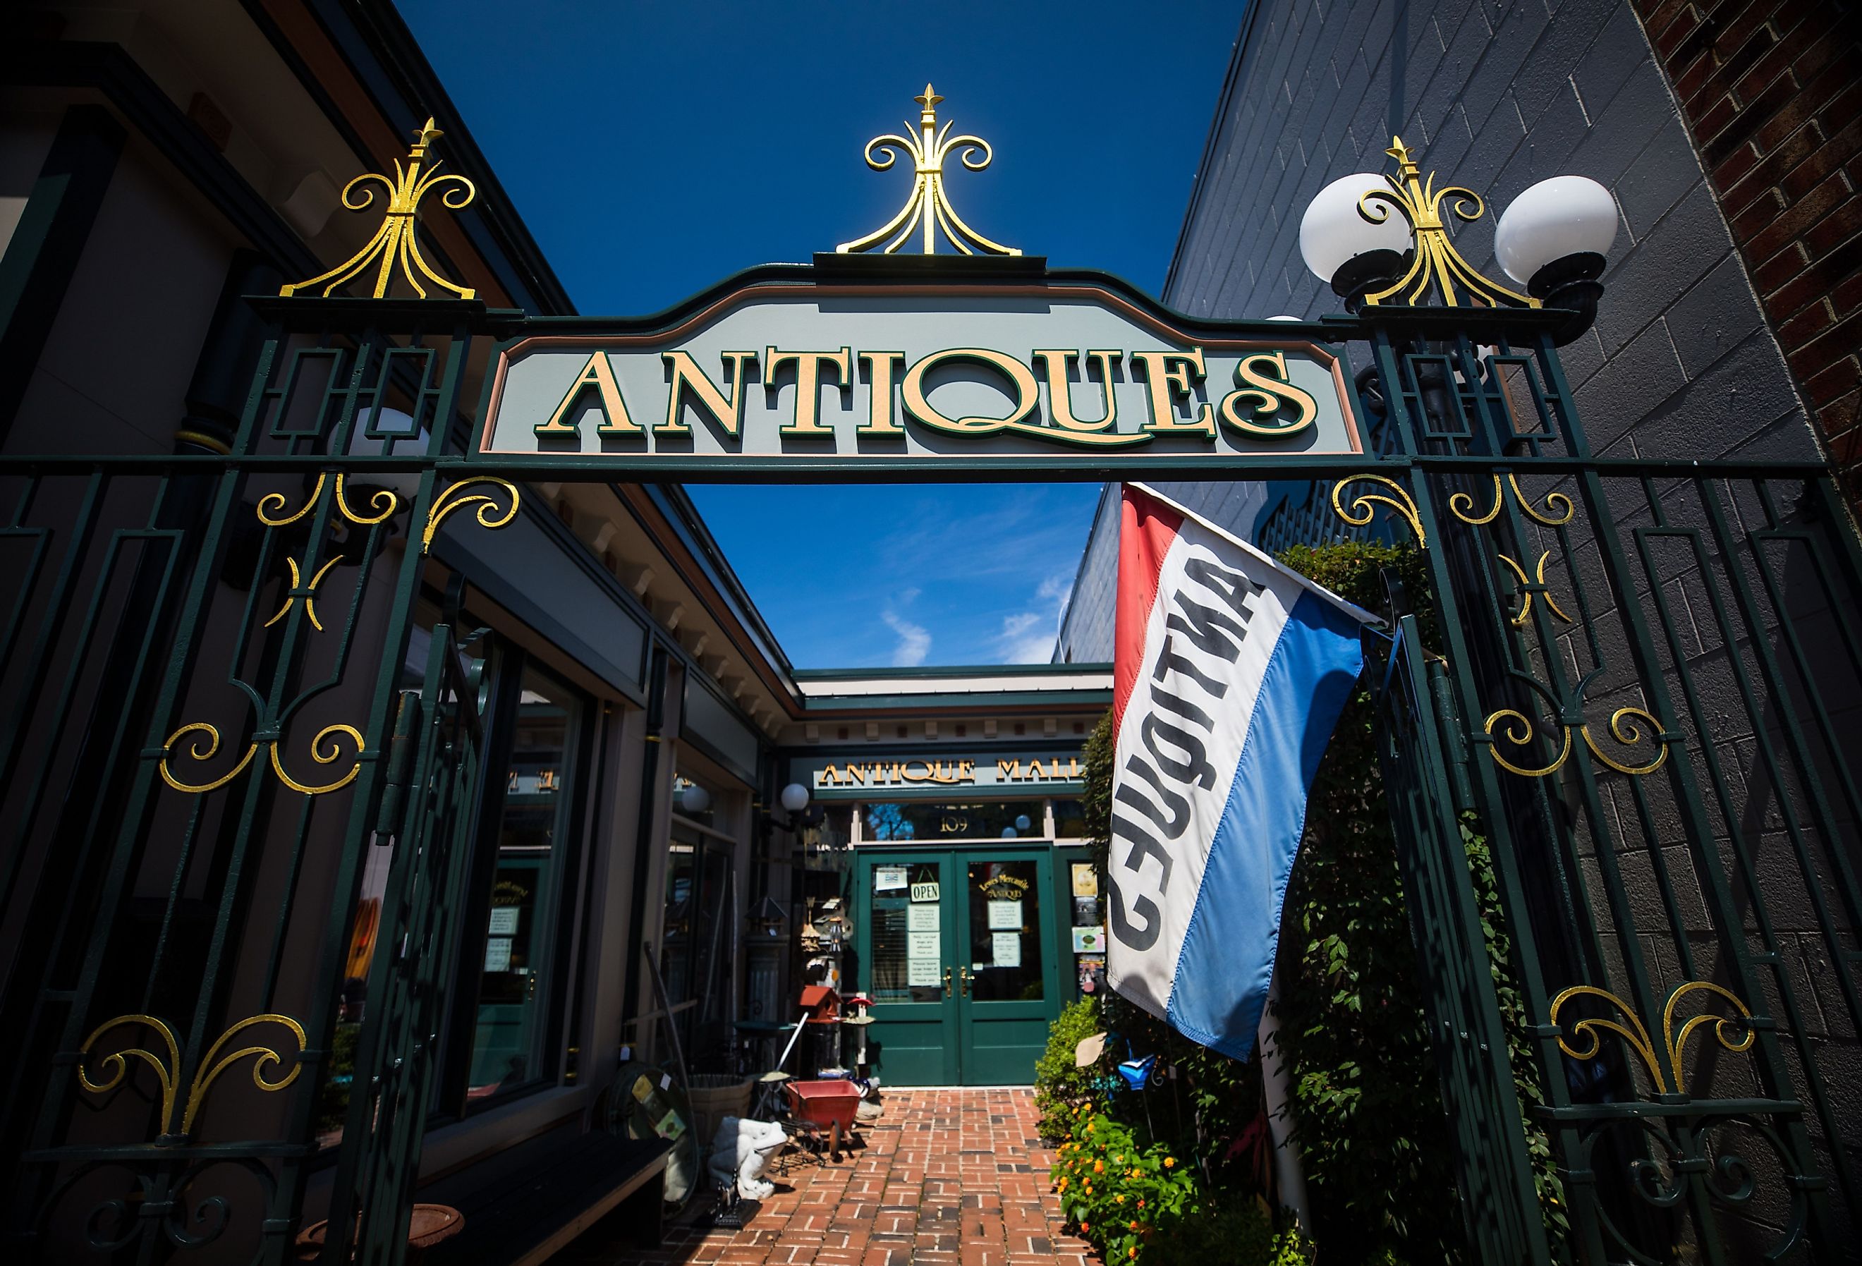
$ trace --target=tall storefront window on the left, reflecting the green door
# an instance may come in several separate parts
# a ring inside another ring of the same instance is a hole
[[[579,724],[573,693],[523,668],[467,1072],[467,1102],[536,1080],[547,1056],[560,886],[566,869],[566,778]],[[493,765],[493,769],[499,769]]]

